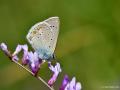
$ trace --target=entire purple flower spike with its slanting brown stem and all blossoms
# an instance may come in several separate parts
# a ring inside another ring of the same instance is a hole
[[[55,81],[58,78],[58,75],[60,72],[62,72],[60,64],[56,63],[55,66],[51,65],[51,62],[48,62],[49,69],[53,72],[52,77],[50,80],[48,80],[48,83],[46,83],[40,76],[37,75],[40,66],[45,62],[44,60],[40,59],[38,54],[36,52],[28,51],[28,46],[25,45],[18,45],[16,47],[16,50],[13,54],[10,53],[10,51],[7,48],[7,45],[5,43],[0,44],[0,49],[6,54],[6,56],[9,57],[11,61],[28,71],[31,75],[42,81],[50,90],[54,90],[51,86],[55,83]],[[22,63],[19,63],[19,58],[17,57],[18,53],[23,50],[23,57],[22,57]],[[29,68],[26,68],[23,65],[29,65]],[[76,78],[73,77],[72,80],[69,80],[69,77],[67,75],[64,76],[62,85],[59,90],[81,90],[82,86],[80,82],[76,82]]]

